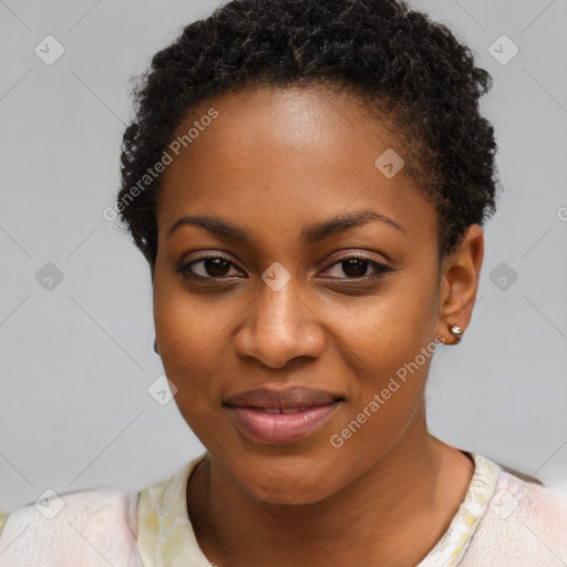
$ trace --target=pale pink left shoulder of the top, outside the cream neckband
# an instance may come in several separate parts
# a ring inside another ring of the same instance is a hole
[[[137,492],[65,493],[0,513],[2,567],[142,567]]]

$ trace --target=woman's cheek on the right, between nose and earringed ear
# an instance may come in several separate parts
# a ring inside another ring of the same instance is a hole
[[[341,357],[357,378],[343,419],[349,431],[336,431],[347,437],[346,446],[365,445],[382,453],[403,433],[421,402],[437,348],[436,287],[433,276],[406,279],[409,284],[392,286],[355,316],[343,313]]]

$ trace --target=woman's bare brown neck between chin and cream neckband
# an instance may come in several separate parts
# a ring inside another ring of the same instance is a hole
[[[447,529],[472,473],[466,455],[429,434],[423,410],[379,462],[320,502],[266,505],[208,457],[187,507],[199,547],[219,567],[416,565]]]

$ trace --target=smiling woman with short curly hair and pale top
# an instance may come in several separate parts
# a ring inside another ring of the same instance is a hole
[[[425,420],[495,210],[489,85],[393,0],[235,0],[157,53],[116,212],[207,452],[140,494],[16,511],[0,564],[567,561],[565,503]]]

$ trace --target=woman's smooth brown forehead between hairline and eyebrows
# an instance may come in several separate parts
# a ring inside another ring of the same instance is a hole
[[[218,116],[202,123],[212,110]],[[169,152],[162,178],[161,237],[189,214],[258,231],[297,225],[299,234],[313,220],[368,208],[414,238],[427,229],[434,235],[434,212],[403,167],[392,177],[377,166],[377,159],[384,165],[382,155],[400,166],[404,148],[352,95],[326,87],[245,90],[194,109],[174,137],[190,128],[194,137],[178,155]]]

